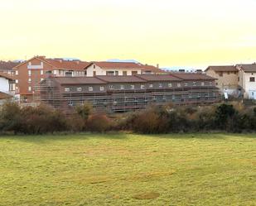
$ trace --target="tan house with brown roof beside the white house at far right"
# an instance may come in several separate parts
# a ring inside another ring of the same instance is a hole
[[[233,65],[209,66],[205,74],[216,79],[216,86],[221,93],[239,96],[239,69]]]

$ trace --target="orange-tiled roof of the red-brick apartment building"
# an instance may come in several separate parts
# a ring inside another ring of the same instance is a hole
[[[41,60],[48,65],[51,65],[53,68],[56,69],[70,69],[70,70],[84,70],[90,63],[87,61],[80,61],[80,60],[63,60],[63,59],[46,59],[45,56],[35,56],[30,60],[24,61],[19,65],[16,65],[16,68],[26,64],[28,61],[33,59]]]

